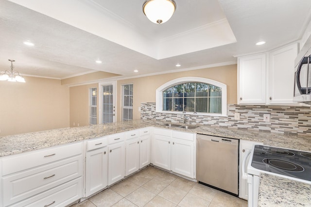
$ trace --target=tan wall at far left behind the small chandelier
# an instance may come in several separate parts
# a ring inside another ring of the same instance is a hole
[[[69,127],[69,87],[60,80],[0,81],[0,136]]]

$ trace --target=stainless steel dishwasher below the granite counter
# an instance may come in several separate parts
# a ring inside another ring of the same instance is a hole
[[[239,194],[239,140],[196,135],[196,179]]]

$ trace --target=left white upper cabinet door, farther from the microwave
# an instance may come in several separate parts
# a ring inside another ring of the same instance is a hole
[[[266,54],[238,58],[238,103],[266,102]]]

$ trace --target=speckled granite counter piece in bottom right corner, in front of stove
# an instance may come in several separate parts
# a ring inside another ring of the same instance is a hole
[[[261,174],[258,207],[311,207],[311,185]]]

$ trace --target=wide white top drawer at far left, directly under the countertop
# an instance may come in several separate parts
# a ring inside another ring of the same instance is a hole
[[[2,176],[79,154],[82,154],[81,142],[7,156],[1,159]]]

